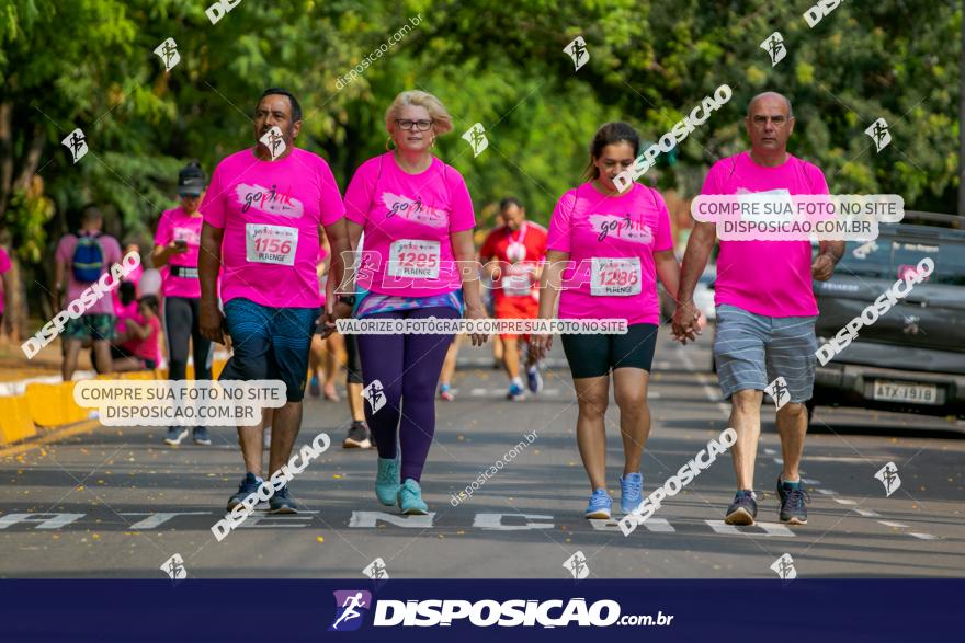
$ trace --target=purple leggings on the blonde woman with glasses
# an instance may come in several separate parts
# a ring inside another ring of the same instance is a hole
[[[456,319],[452,308],[433,307],[377,312],[365,319]],[[375,438],[378,457],[391,460],[402,449],[401,480],[419,481],[435,433],[435,387],[453,335],[359,335],[362,379],[382,383],[385,405],[365,420]],[[405,412],[402,412],[405,406]]]

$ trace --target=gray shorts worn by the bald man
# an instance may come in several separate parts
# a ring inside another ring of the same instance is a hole
[[[720,392],[763,391],[779,377],[787,382],[791,402],[810,400],[818,341],[817,317],[768,317],[722,303],[717,307],[714,358]]]

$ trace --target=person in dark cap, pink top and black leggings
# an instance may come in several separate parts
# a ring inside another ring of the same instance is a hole
[[[164,338],[168,343],[168,378],[188,379],[188,353],[194,357],[194,379],[209,380],[214,346],[201,333],[201,280],[197,273],[201,228],[204,217],[198,210],[207,176],[197,161],[188,163],[178,173],[181,206],[164,210],[155,233],[151,261],[162,269]],[[206,426],[195,426],[192,439],[209,445]],[[164,441],[177,446],[188,437],[186,426],[171,426]]]

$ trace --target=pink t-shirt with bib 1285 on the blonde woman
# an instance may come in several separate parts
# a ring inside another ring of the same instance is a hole
[[[439,159],[419,174],[391,152],[368,159],[345,191],[345,217],[365,228],[356,283],[381,295],[431,297],[462,287],[451,234],[476,227],[463,175]]]

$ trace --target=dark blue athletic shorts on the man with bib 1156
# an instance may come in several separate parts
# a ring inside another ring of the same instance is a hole
[[[318,312],[318,308],[270,308],[240,297],[225,303],[232,354],[218,379],[280,379],[288,402],[300,402]]]

